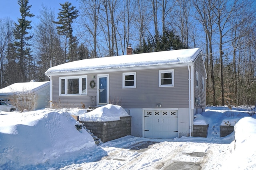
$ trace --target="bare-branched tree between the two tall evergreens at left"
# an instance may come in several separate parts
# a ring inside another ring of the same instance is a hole
[[[36,49],[39,80],[46,80],[44,72],[51,66],[65,63],[64,53],[60,46],[60,35],[56,30],[56,24],[53,23],[55,19],[54,10],[42,6],[40,15],[38,16],[40,22],[36,24],[34,29],[34,47]]]

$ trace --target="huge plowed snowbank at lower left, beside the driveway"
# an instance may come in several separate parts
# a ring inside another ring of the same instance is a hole
[[[49,165],[77,156],[78,151],[94,150],[92,136],[85,129],[78,131],[77,124],[67,112],[1,111],[0,167],[20,169],[28,165]]]

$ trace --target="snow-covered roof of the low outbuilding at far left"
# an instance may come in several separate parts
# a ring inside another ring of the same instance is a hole
[[[0,96],[12,95],[13,93],[21,94],[27,91],[36,92],[44,86],[50,85],[50,81],[46,82],[23,82],[23,83],[14,83],[10,86],[0,89]]]

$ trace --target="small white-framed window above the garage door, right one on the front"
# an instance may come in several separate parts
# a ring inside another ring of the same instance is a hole
[[[174,70],[159,70],[159,87],[174,86]]]

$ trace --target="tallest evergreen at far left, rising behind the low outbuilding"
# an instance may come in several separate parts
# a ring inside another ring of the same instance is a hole
[[[31,21],[27,20],[27,17],[33,17],[34,14],[30,13],[31,5],[28,5],[28,0],[18,0],[20,5],[21,18],[18,18],[18,23],[14,23],[14,47],[16,47],[17,60],[18,60],[18,70],[17,70],[17,82],[27,82],[27,60],[31,57],[31,49],[28,41],[33,37],[29,35],[28,29],[32,29],[30,25]]]

